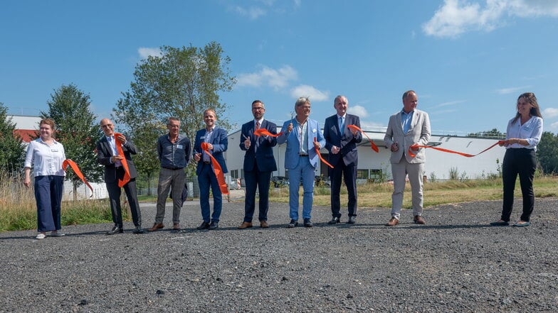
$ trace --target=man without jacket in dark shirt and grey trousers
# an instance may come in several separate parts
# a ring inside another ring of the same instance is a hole
[[[169,117],[167,123],[169,133],[157,140],[157,155],[161,162],[159,184],[157,184],[157,214],[153,227],[147,231],[157,231],[164,227],[164,207],[172,192],[172,229],[180,231],[180,209],[182,207],[182,189],[186,173],[184,168],[190,161],[191,145],[188,138],[180,136],[180,121]]]

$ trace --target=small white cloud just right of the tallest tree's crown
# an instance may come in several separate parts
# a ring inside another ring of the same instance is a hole
[[[285,65],[278,70],[262,66],[260,72],[241,73],[236,77],[238,86],[260,87],[262,85],[273,87],[274,89],[284,88],[291,80],[298,78],[297,71]]]

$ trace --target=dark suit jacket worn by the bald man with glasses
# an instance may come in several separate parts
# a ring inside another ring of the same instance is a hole
[[[137,177],[136,166],[134,165],[134,161],[132,161],[132,154],[137,153],[136,146],[132,141],[127,140],[126,143],[122,145],[122,150],[124,151],[124,157],[126,158],[128,169],[130,170],[130,178]],[[97,143],[97,162],[105,165],[105,182],[117,182],[115,163],[110,163],[111,156],[112,148],[110,148],[107,137],[103,135]]]

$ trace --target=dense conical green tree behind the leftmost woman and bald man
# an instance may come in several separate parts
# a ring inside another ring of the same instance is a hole
[[[46,102],[48,112],[41,111],[41,117],[56,122],[56,139],[64,145],[66,158],[73,160],[80,167],[85,178],[90,182],[99,182],[102,167],[97,163],[95,146],[101,131],[96,116],[90,111],[90,97],[75,84],[62,85],[51,94]],[[72,170],[67,177],[73,184],[73,199],[77,199],[78,186],[83,184]]]

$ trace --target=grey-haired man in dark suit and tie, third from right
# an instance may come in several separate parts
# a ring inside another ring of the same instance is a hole
[[[335,97],[333,107],[337,114],[325,119],[324,125],[325,148],[330,151],[328,162],[333,166],[330,168],[332,220],[328,224],[337,224],[341,219],[339,193],[342,177],[349,198],[347,223],[354,224],[357,217],[357,143],[362,141],[362,133],[347,126],[355,125],[360,128],[360,119],[359,116],[347,114],[347,97]]]

